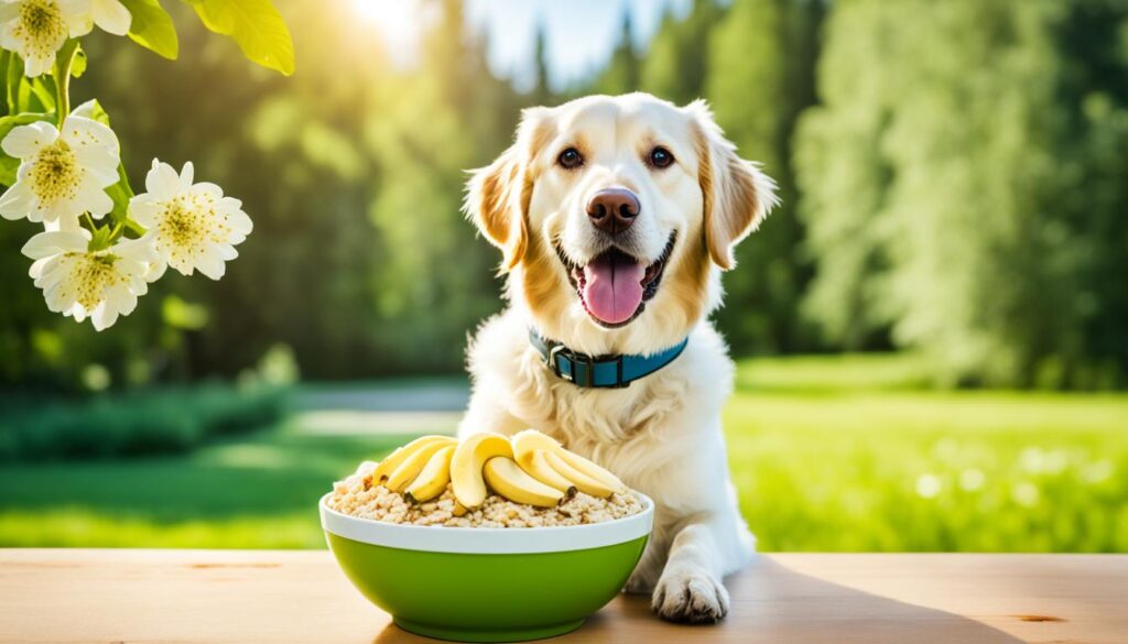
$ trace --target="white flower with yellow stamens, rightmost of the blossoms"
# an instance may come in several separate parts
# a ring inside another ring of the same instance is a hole
[[[185,275],[199,270],[219,280],[223,262],[239,256],[235,245],[250,233],[243,202],[223,196],[215,184],[193,184],[192,178],[191,162],[177,175],[173,166],[153,159],[144,179],[149,192],[130,201],[130,217],[149,229],[159,257],[150,281],[169,265]]]

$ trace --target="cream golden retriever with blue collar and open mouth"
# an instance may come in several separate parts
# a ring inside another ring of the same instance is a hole
[[[646,94],[525,109],[467,184],[508,308],[470,341],[459,435],[535,427],[653,499],[624,590],[668,620],[722,619],[722,580],[755,553],[721,429],[733,365],[707,316],[733,247],[776,203],[705,102]]]

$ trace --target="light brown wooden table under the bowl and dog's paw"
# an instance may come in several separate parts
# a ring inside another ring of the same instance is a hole
[[[1128,556],[761,555],[719,626],[619,597],[554,639],[1128,643]],[[399,630],[327,552],[0,549],[0,642],[432,642]]]

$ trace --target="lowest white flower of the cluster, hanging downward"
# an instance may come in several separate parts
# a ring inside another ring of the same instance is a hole
[[[85,229],[41,232],[23,253],[35,259],[28,274],[43,289],[49,309],[76,321],[89,317],[102,330],[136,308],[138,297],[149,289],[144,275],[155,256],[144,237],[92,252],[89,240]]]

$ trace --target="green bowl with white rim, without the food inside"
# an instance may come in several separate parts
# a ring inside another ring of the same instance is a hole
[[[342,514],[321,497],[321,528],[360,592],[404,630],[466,642],[520,642],[579,628],[623,589],[654,521],[638,514],[559,528],[399,526]]]

